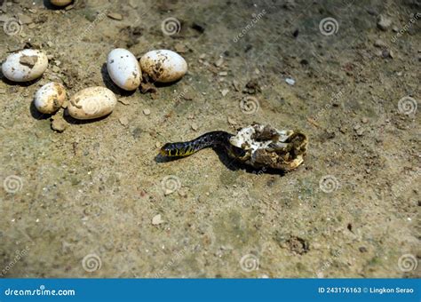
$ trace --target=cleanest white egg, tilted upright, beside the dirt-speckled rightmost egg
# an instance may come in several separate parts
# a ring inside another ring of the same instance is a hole
[[[134,91],[140,85],[142,72],[136,57],[123,48],[108,53],[108,75],[113,82],[125,91]]]

